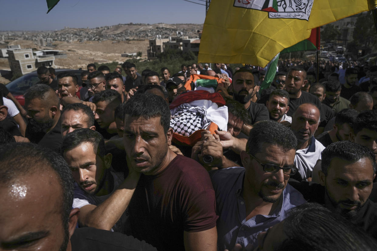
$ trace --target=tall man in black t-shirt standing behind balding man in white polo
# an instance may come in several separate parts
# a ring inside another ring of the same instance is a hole
[[[289,93],[289,110],[288,116],[293,116],[297,107],[303,103],[314,103],[318,109],[321,107],[319,99],[306,91],[301,91],[301,88],[307,84],[306,71],[298,66],[289,69],[287,77],[285,78],[285,90]]]

